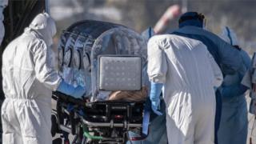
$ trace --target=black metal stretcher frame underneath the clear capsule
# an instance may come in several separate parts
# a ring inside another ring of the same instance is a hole
[[[88,132],[88,128],[95,128],[95,127],[105,127],[105,128],[122,128],[122,130],[126,130],[128,132],[129,130],[133,128],[142,128],[142,135],[141,137],[134,137],[130,138],[131,141],[138,141],[146,138],[147,132],[148,132],[148,126],[149,126],[149,114],[147,114],[147,117],[143,117],[143,122],[138,123],[132,123],[132,122],[114,122],[113,120],[110,120],[110,122],[91,122],[90,120],[85,118],[85,113],[81,113],[81,110],[86,107],[94,106],[95,104],[104,104],[108,103],[109,105],[118,105],[120,108],[120,104],[123,106],[134,106],[135,102],[82,102],[81,100],[78,100],[76,98],[71,98],[70,96],[66,94],[62,94],[59,92],[55,92],[53,94],[53,98],[57,100],[57,121],[58,121],[58,130],[62,130],[66,132],[67,134],[74,134],[76,135],[73,142],[76,142],[79,138],[79,128],[82,127],[82,135],[85,138],[92,138],[93,140],[111,140],[111,142],[118,141],[120,143],[125,142],[124,139],[117,137],[117,138],[110,138],[110,137],[103,137],[103,136],[94,136],[90,135]],[[138,102],[140,104],[143,104],[144,102]],[[106,105],[108,105],[106,104]],[[122,109],[122,108],[121,108]],[[146,110],[143,110],[144,115],[146,114]],[[64,115],[67,115],[69,118],[69,125],[66,126],[65,122],[63,121]],[[146,130],[146,133],[145,133]],[[144,131],[144,133],[143,133]],[[55,132],[56,133],[56,132]],[[81,137],[81,135],[80,135]],[[85,139],[83,138],[83,139]]]

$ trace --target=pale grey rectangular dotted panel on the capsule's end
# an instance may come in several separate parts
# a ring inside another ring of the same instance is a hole
[[[102,56],[99,58],[99,90],[140,90],[140,57]]]

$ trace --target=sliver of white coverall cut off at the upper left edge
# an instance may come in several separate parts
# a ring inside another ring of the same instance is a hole
[[[4,16],[2,13],[7,5],[8,5],[8,0],[0,0],[0,46],[2,43],[2,39],[5,36],[5,26],[2,23]]]

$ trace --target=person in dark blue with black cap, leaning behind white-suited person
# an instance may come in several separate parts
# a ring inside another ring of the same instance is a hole
[[[242,62],[239,50],[234,49],[229,43],[219,38],[216,34],[204,29],[205,16],[197,12],[186,12],[178,20],[178,29],[171,32],[186,38],[196,39],[206,45],[207,50],[214,57],[215,62],[220,66],[222,74],[239,73],[246,74],[246,66]],[[242,80],[241,80],[242,81]],[[218,128],[222,114],[222,98],[219,90],[215,92],[216,114],[215,114],[215,140],[218,144]]]

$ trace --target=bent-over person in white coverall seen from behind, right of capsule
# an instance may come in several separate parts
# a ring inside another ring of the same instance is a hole
[[[163,86],[169,144],[214,144],[214,86],[222,72],[206,46],[163,34],[148,42],[151,108],[158,111]]]

